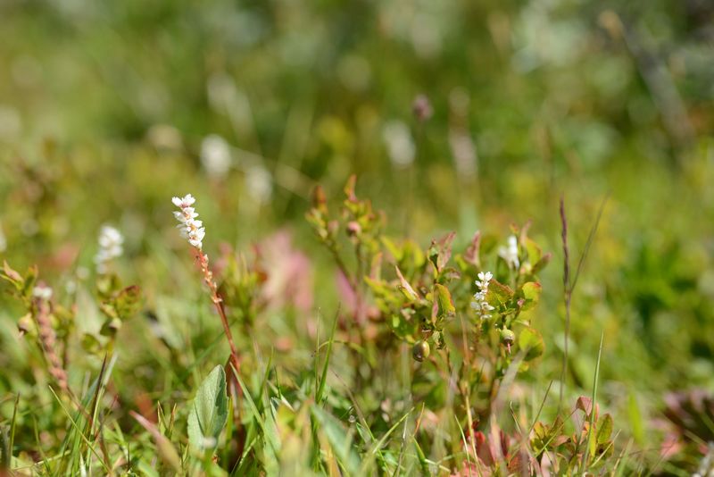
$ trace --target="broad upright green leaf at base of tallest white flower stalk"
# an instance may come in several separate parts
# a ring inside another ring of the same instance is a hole
[[[199,386],[188,414],[188,441],[195,448],[211,448],[218,443],[228,419],[226,372],[216,366]]]

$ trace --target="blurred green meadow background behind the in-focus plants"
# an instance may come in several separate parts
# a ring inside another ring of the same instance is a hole
[[[315,184],[337,199],[356,173],[390,231],[425,245],[534,222],[555,255],[535,323],[547,382],[558,201],[577,257],[607,197],[572,379],[590,389],[604,331],[602,397],[631,420],[632,403],[656,416],[668,390],[714,389],[713,131],[707,0],[0,3],[0,250],[15,268],[91,269],[111,222],[147,307],[199,296],[188,259],[170,265],[170,197],[191,192],[210,254],[293,230],[328,310],[334,270],[303,214]]]

